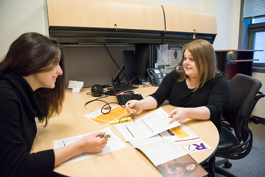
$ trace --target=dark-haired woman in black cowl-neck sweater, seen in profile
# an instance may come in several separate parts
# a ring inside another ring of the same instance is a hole
[[[30,154],[37,133],[35,117],[47,126],[62,110],[65,93],[63,47],[56,39],[24,33],[0,62],[1,176],[60,176],[53,168],[82,152],[99,152],[106,132],[73,144]]]

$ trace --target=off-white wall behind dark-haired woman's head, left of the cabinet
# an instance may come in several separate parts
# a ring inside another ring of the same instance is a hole
[[[0,58],[22,33],[46,35],[43,0],[0,0]]]

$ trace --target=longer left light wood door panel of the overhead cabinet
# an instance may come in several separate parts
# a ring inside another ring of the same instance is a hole
[[[125,0],[47,0],[49,26],[165,30],[160,5]]]

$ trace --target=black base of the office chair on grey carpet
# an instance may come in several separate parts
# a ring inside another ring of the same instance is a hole
[[[220,164],[224,164],[224,163],[221,163],[221,162],[228,162],[228,159],[224,159],[224,160],[220,160],[218,161],[217,163],[215,162],[215,157],[212,157],[211,159],[209,159],[208,161],[208,166],[204,167],[204,169],[206,171],[208,171],[208,177],[215,177],[215,173],[218,173],[220,175],[224,175],[226,177],[237,177],[236,175],[233,175],[232,173],[230,173],[229,171],[221,168],[221,167],[218,167],[218,165]]]

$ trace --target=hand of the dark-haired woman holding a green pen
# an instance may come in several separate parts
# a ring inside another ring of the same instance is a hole
[[[95,132],[81,139],[83,152],[97,153],[101,151],[106,146],[108,140],[107,137],[101,137],[105,133]]]

